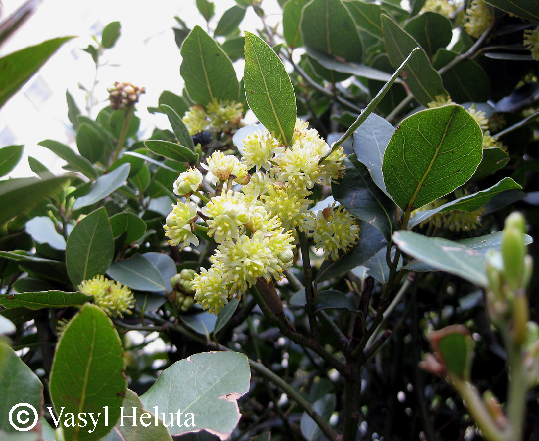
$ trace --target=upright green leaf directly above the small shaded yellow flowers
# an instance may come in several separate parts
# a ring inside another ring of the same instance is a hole
[[[232,61],[200,26],[195,26],[184,40],[179,72],[189,97],[205,106],[213,99],[236,101],[239,83]]]

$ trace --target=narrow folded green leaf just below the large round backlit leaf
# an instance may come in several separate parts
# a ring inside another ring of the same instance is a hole
[[[478,191],[476,193],[473,193],[471,195],[463,196],[458,199],[455,199],[454,201],[448,202],[444,205],[440,205],[437,208],[433,208],[432,210],[425,210],[421,211],[415,216],[408,224],[408,228],[411,229],[412,227],[420,224],[421,222],[425,221],[425,219],[428,219],[432,215],[438,212],[444,212],[444,211],[451,211],[451,210],[461,210],[461,211],[474,211],[479,208],[481,208],[483,205],[485,205],[490,199],[492,199],[494,196],[496,196],[498,193],[501,193],[502,191],[506,190],[512,190],[512,189],[519,189],[521,190],[522,187],[517,184],[515,181],[513,181],[510,177],[503,178],[500,182],[497,184],[494,184],[492,187],[489,187],[485,190]]]

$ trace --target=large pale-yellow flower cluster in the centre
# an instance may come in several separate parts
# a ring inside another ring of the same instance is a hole
[[[313,235],[316,246],[327,249],[332,258],[357,239],[354,219],[342,208],[323,225],[311,219],[308,209],[315,183],[329,184],[343,174],[342,148],[319,164],[330,148],[301,120],[296,122],[291,146],[283,146],[267,130],[247,136],[244,146],[241,159],[221,151],[209,156],[202,167],[218,183],[216,194],[207,199],[196,191],[205,202],[200,209],[189,198],[185,203],[178,200],[164,226],[172,245],[198,245],[198,239],[189,236],[196,228],[207,230],[217,242],[210,268],[201,268],[190,283],[195,300],[215,314],[257,279],[269,282],[282,277],[294,258],[297,231]],[[251,175],[248,171],[254,167],[257,171]],[[197,187],[197,176],[195,171],[180,175],[174,184],[176,194]],[[243,187],[234,189],[234,183]],[[197,219],[206,226],[196,224]]]

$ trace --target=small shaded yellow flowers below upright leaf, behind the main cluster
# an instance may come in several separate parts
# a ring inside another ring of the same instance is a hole
[[[223,102],[214,98],[206,108],[199,104],[190,107],[182,120],[191,136],[202,132],[230,133],[239,127],[241,111],[239,102]]]

